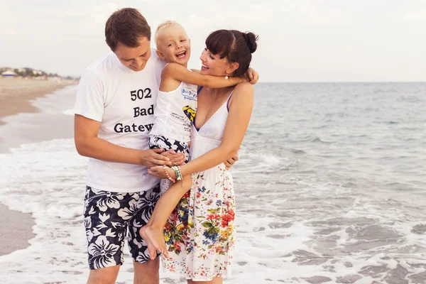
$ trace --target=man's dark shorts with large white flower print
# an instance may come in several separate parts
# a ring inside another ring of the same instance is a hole
[[[146,263],[148,246],[139,235],[160,197],[160,185],[142,192],[109,192],[86,187],[84,226],[89,268],[123,264],[124,240],[133,260]]]

